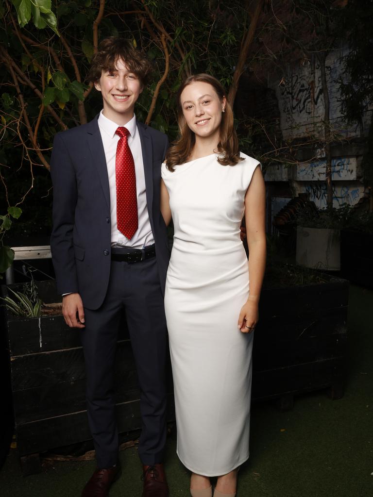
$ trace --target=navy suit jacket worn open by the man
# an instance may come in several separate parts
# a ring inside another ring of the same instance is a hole
[[[58,292],[80,293],[83,305],[98,309],[110,276],[110,194],[105,154],[96,116],[88,124],[58,133],[53,143],[52,260]],[[146,198],[164,291],[170,257],[167,229],[160,211],[161,164],[168,139],[137,122]]]

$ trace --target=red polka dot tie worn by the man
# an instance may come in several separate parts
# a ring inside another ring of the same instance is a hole
[[[120,126],[115,133],[120,136],[115,156],[116,224],[131,240],[138,227],[135,163],[128,146],[128,129]]]

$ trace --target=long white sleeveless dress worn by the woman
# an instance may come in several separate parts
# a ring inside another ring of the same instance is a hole
[[[193,473],[219,476],[249,457],[253,333],[237,328],[249,293],[240,240],[244,198],[258,161],[221,166],[212,154],[169,171],[174,245],[165,310],[178,456]]]

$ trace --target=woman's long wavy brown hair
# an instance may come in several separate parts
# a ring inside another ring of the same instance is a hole
[[[178,164],[184,164],[190,157],[194,143],[195,135],[189,129],[187,122],[183,114],[183,107],[181,104],[181,94],[184,88],[195,81],[208,83],[216,91],[216,94],[223,100],[225,95],[224,88],[220,82],[210,76],[209,74],[196,74],[194,76],[189,76],[184,83],[179,88],[178,91],[178,123],[179,123],[179,136],[176,142],[169,148],[166,155],[166,166],[170,171],[174,171],[174,166]],[[233,126],[233,112],[228,101],[225,105],[225,112],[222,113],[220,130],[219,130],[219,143],[217,146],[217,152],[219,153],[218,162],[222,166],[234,166],[243,158],[240,157],[238,138],[236,130]]]

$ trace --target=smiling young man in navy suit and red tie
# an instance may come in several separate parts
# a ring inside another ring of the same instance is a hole
[[[53,145],[52,257],[65,321],[82,337],[97,460],[82,497],[107,496],[119,473],[113,362],[123,308],[141,389],[143,497],[169,495],[162,465],[169,249],[159,205],[168,140],[134,115],[150,70],[127,40],[104,40],[90,73],[103,110]]]

